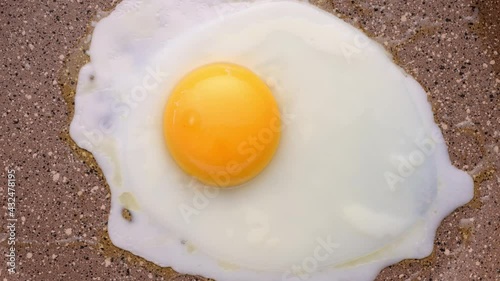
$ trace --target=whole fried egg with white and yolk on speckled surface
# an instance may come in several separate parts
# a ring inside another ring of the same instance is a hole
[[[160,266],[373,280],[473,196],[422,87],[308,3],[124,0],[88,54],[71,137],[111,189],[112,242]]]

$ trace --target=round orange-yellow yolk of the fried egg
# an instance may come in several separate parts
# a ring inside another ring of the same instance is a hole
[[[177,164],[218,187],[257,176],[281,135],[269,87],[249,69],[228,63],[202,66],[182,78],[168,99],[163,126]]]

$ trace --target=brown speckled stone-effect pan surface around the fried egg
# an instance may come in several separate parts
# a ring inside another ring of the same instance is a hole
[[[444,220],[433,254],[377,280],[500,280],[500,2],[312,2],[383,43],[427,89],[453,164],[475,179],[474,200]],[[197,280],[109,243],[109,190],[65,138],[60,71],[90,20],[114,4],[0,0],[2,257],[7,168],[18,185],[18,273],[2,261],[1,280]]]

